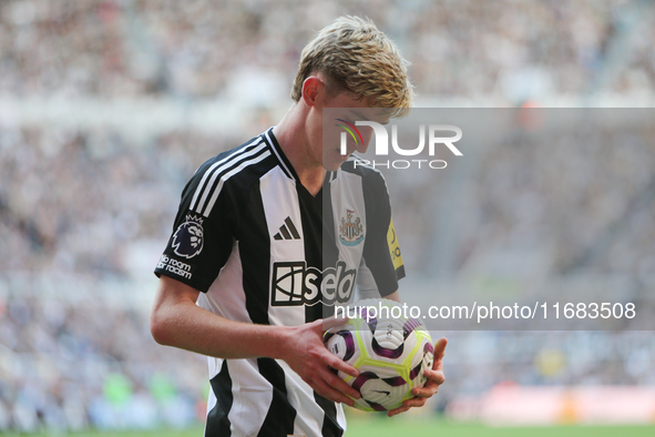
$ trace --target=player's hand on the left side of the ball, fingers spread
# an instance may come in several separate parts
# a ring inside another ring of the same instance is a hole
[[[323,397],[352,406],[348,396],[359,398],[359,392],[346,384],[329,367],[357,377],[359,372],[337,356],[332,355],[323,343],[324,329],[329,329],[348,322],[342,318],[318,319],[293,328],[293,335],[285,342],[283,359],[303,380]],[[346,396],[348,395],[348,396]]]

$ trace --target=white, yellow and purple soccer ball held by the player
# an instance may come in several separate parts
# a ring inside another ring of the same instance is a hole
[[[403,317],[390,299],[364,299],[346,309],[347,324],[326,332],[324,343],[336,356],[359,370],[337,375],[361,395],[355,407],[365,411],[398,408],[413,397],[411,390],[427,382],[434,349],[426,325]],[[340,311],[337,312],[337,316]]]

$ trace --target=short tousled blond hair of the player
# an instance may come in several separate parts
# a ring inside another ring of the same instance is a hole
[[[328,77],[329,91],[350,91],[369,98],[372,108],[396,108],[392,116],[402,116],[413,96],[407,64],[372,21],[341,17],[303,49],[291,99],[298,102],[305,79],[321,72]]]

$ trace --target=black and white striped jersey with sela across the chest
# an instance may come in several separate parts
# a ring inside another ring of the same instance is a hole
[[[405,275],[381,174],[350,157],[313,196],[273,129],[204,163],[182,194],[155,274],[234,321],[297,326],[386,296]],[[207,436],[341,436],[341,405],[285,362],[208,358]]]

